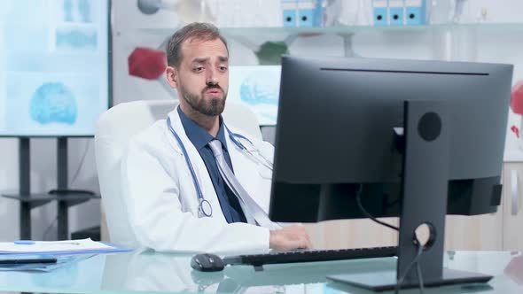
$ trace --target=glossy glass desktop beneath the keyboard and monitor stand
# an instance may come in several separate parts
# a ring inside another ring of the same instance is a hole
[[[325,275],[391,269],[394,258],[360,259],[253,267],[200,273],[191,256],[150,251],[97,255],[51,273],[0,272],[0,291],[53,293],[226,292],[372,293],[327,282]],[[494,275],[488,284],[449,286],[425,293],[523,293],[523,255],[508,251],[449,251],[446,267]],[[390,292],[389,292],[390,293]],[[418,290],[402,290],[418,293]]]

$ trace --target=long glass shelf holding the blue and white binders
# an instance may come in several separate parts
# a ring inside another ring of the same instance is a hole
[[[433,32],[460,29],[476,29],[499,32],[501,30],[519,32],[523,34],[521,23],[473,23],[473,24],[444,24],[423,26],[347,26],[347,27],[222,27],[223,35],[252,36],[252,35],[354,35],[357,33],[410,33]],[[172,35],[176,27],[143,28],[141,31],[152,35]]]

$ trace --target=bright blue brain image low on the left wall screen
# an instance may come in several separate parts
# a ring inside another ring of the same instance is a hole
[[[71,89],[61,82],[46,82],[31,97],[31,119],[40,124],[50,122],[74,124],[77,116],[76,99]]]

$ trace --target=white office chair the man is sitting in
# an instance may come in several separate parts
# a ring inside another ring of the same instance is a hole
[[[123,205],[125,195],[121,195],[121,156],[131,137],[151,126],[156,120],[165,119],[177,104],[177,100],[118,104],[103,113],[98,120],[95,134],[98,182],[109,237],[114,243],[137,245]],[[229,126],[241,128],[249,135],[262,138],[258,120],[246,105],[227,102],[223,118]]]

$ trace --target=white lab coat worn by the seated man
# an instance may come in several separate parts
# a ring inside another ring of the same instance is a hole
[[[138,243],[156,251],[269,251],[268,228],[227,223],[207,167],[185,134],[178,112],[168,116],[191,159],[213,215],[199,218],[198,196],[182,149],[166,120],[159,120],[131,140],[121,162],[122,195]],[[245,135],[267,159],[273,158],[274,147],[270,143],[228,127],[233,133]],[[225,132],[234,174],[268,213],[272,172],[240,151]]]

